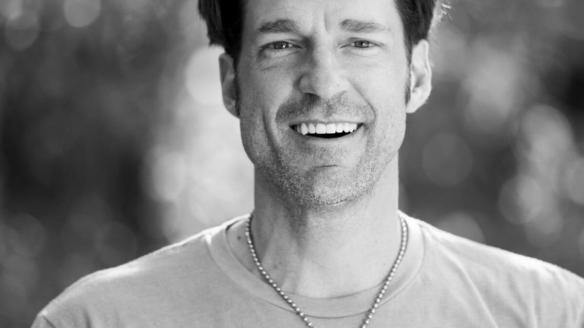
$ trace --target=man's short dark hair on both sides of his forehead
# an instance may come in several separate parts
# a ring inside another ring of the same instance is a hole
[[[241,50],[245,0],[199,0],[199,15],[207,23],[207,36],[211,46],[225,48],[237,65]],[[399,16],[404,23],[405,47],[408,61],[412,48],[420,40],[428,39],[430,27],[444,13],[444,0],[395,0]],[[436,18],[436,19],[435,19]]]

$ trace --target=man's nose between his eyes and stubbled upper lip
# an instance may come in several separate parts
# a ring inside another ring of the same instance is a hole
[[[307,58],[304,74],[300,78],[300,90],[328,100],[349,88],[345,72],[339,65],[334,50],[315,48]]]

